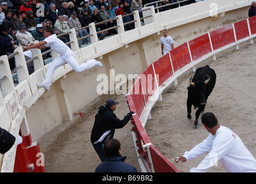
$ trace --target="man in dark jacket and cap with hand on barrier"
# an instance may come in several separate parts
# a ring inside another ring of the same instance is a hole
[[[102,162],[105,160],[103,144],[105,141],[113,139],[115,129],[123,128],[133,114],[133,112],[129,112],[123,120],[119,120],[113,113],[117,104],[119,102],[114,101],[114,99],[107,99],[105,106],[99,106],[91,131],[91,143]]]

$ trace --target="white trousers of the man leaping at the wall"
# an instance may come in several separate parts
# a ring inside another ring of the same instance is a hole
[[[84,70],[88,70],[91,67],[95,66],[95,62],[86,62],[79,66],[79,64],[76,61],[74,53],[66,54],[65,56],[58,56],[56,57],[48,66],[46,76],[44,78],[43,83],[47,86],[50,86],[51,84],[51,78],[53,78],[54,71],[64,65],[64,64],[70,64],[70,66],[76,71],[76,72],[82,72]]]

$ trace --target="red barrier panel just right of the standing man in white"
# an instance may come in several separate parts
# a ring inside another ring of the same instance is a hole
[[[190,63],[191,59],[187,43],[184,43],[179,47],[172,49],[172,51],[170,51],[170,57],[172,58],[172,66],[174,72],[180,70],[188,63]]]

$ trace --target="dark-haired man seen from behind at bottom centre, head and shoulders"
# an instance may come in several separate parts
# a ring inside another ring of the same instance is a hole
[[[99,164],[95,173],[138,173],[135,167],[124,162],[127,156],[121,155],[121,144],[118,140],[107,140],[103,150],[106,159]]]

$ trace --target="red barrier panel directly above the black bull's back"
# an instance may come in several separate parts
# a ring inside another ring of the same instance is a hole
[[[192,60],[199,59],[200,57],[212,52],[212,47],[210,44],[209,34],[203,34],[194,40],[188,41],[190,45],[190,51]]]

